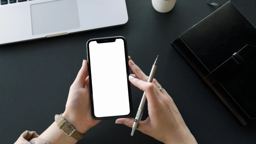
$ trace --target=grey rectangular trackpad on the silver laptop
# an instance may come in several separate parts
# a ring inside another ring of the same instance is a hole
[[[32,4],[30,9],[33,35],[80,28],[77,0]]]

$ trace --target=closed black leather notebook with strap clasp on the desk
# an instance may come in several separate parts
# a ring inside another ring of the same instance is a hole
[[[242,125],[256,118],[256,28],[230,1],[172,46]]]

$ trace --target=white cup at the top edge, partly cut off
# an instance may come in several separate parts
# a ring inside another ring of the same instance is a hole
[[[176,0],[152,0],[154,9],[160,13],[167,13],[173,9]]]

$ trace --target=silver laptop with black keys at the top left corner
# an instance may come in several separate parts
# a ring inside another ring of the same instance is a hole
[[[123,25],[125,0],[1,0],[0,45]]]

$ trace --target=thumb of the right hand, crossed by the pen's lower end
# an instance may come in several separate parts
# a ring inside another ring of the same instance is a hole
[[[137,128],[137,130],[139,130],[145,134],[145,132],[148,128],[147,121],[148,121],[148,119],[146,119],[145,121],[141,121],[139,128]],[[132,128],[133,122],[134,122],[134,118],[131,118],[131,117],[116,119],[116,124],[124,124],[130,128]]]

